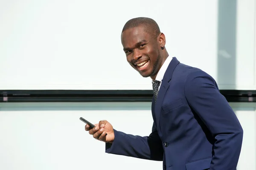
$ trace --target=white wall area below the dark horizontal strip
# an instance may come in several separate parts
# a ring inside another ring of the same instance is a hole
[[[237,170],[256,170],[256,103],[230,103],[244,129]],[[155,170],[160,161],[105,153],[105,144],[84,130],[84,117],[106,119],[117,130],[146,136],[151,132],[150,102],[0,103],[1,170]]]

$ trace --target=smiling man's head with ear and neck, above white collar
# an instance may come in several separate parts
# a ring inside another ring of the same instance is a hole
[[[121,41],[127,61],[143,77],[155,79],[168,57],[164,49],[165,36],[154,20],[145,20],[144,24],[134,21],[129,20],[122,30]]]

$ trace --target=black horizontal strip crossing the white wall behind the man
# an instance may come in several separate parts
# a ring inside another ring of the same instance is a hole
[[[228,102],[256,102],[256,91],[220,90]],[[0,90],[0,102],[151,102],[151,90]]]

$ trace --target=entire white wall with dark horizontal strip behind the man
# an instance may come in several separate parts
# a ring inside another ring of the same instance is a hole
[[[134,17],[154,19],[170,57],[216,80],[244,129],[237,170],[256,170],[256,0],[0,0],[1,170],[162,168],[105,153],[79,120],[150,134],[151,79],[120,37]]]

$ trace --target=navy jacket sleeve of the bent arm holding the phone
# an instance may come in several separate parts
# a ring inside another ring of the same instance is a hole
[[[106,143],[106,153],[163,161],[163,145],[154,124],[149,136],[134,136],[115,129],[114,134],[113,143]]]

